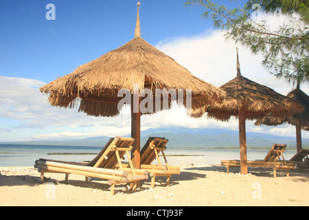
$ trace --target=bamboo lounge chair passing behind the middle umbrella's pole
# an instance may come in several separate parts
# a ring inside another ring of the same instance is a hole
[[[273,177],[277,176],[277,170],[286,170],[286,176],[288,177],[290,169],[296,169],[297,164],[284,159],[285,148],[286,144],[273,144],[264,160],[249,160],[247,164],[249,167],[273,168]],[[229,173],[230,167],[240,166],[240,160],[221,160],[221,165],[226,166],[227,173]]]

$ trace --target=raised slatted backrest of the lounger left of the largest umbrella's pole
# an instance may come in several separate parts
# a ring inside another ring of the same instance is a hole
[[[102,151],[91,161],[87,166],[100,167],[100,168],[112,168],[114,169],[118,164],[117,155],[114,151],[115,148],[128,148],[132,146],[134,142],[130,137],[115,137],[108,140]],[[124,157],[126,151],[119,151],[119,157]]]

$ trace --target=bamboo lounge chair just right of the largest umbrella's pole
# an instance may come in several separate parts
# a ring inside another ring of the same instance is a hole
[[[162,137],[149,137],[144,147],[141,149],[141,169],[146,169],[150,173],[151,188],[155,188],[156,177],[167,177],[166,185],[170,186],[170,177],[180,174],[180,166],[170,166],[165,157],[164,151],[168,140]],[[162,153],[165,165],[161,164],[159,153]],[[152,162],[157,159],[157,165]]]

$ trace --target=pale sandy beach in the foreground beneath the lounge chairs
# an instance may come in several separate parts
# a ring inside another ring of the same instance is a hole
[[[150,179],[137,192],[117,185],[110,195],[106,180],[84,181],[80,175],[47,173],[48,183],[41,184],[40,173],[33,167],[0,167],[1,206],[309,206],[309,170],[285,171],[239,168],[226,173],[224,166],[181,166],[181,175],[157,177],[155,189]]]

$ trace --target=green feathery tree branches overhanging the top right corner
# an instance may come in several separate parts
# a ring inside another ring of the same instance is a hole
[[[243,8],[232,9],[209,0],[188,1],[187,4],[205,7],[203,16],[211,17],[215,27],[227,30],[227,39],[249,47],[254,54],[262,54],[262,64],[271,74],[293,83],[298,80],[305,83],[309,82],[309,28],[306,20],[308,12],[304,12],[308,9],[308,2],[249,0]],[[275,30],[271,29],[267,21],[253,18],[257,6],[254,3],[260,4],[265,12],[281,10],[288,17],[288,21]]]

